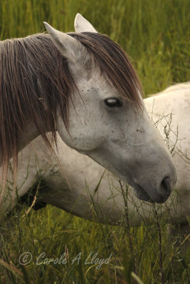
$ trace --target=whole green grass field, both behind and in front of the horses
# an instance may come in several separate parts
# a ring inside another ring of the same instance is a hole
[[[153,94],[189,81],[189,11],[190,0],[0,0],[0,38],[43,32],[43,21],[73,31],[75,14],[82,13],[97,31],[120,43],[144,93]],[[100,224],[98,214],[97,222],[90,222],[47,206],[23,218],[26,210],[12,212],[1,231],[0,283],[190,283],[190,250],[183,257],[175,240],[169,241],[157,211],[149,224],[135,228],[127,218],[123,226],[110,226]],[[23,266],[19,258],[25,252],[32,259]],[[66,263],[36,264],[43,252],[48,259],[65,253]],[[97,269],[93,262],[85,264],[90,253],[105,260],[111,256],[110,261]],[[76,256],[80,261],[72,263]]]

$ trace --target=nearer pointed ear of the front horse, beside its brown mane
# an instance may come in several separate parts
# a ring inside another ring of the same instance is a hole
[[[75,38],[72,38],[67,33],[57,31],[48,23],[43,22],[46,30],[51,35],[51,39],[56,44],[60,53],[68,60],[76,62],[82,58],[82,53],[85,53],[85,47]]]

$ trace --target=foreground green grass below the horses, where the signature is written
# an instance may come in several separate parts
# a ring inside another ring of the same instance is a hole
[[[28,207],[17,207],[1,228],[0,283],[189,283],[190,247],[184,257],[159,207],[150,208],[154,218],[139,227],[129,226],[127,212],[120,226],[101,224],[97,207],[96,222],[51,206],[24,217]],[[21,258],[26,252],[29,258]],[[42,263],[63,253],[66,263]],[[97,269],[89,263],[95,253],[110,261]],[[134,282],[132,273],[142,282]]]

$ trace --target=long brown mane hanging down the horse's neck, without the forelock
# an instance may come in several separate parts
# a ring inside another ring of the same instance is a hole
[[[47,34],[0,42],[0,153],[6,176],[9,158],[17,165],[18,138],[27,119],[51,146],[59,111],[68,129],[68,98],[75,82],[68,64]],[[16,172],[14,171],[16,176]]]

